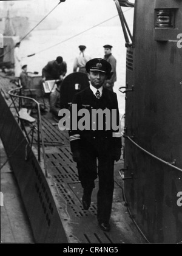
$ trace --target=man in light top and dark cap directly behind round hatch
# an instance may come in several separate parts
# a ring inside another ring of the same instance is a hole
[[[78,46],[79,47],[79,55],[75,58],[74,64],[73,64],[73,72],[86,72],[86,63],[87,61],[91,60],[91,57],[87,54],[85,54],[86,46]]]

